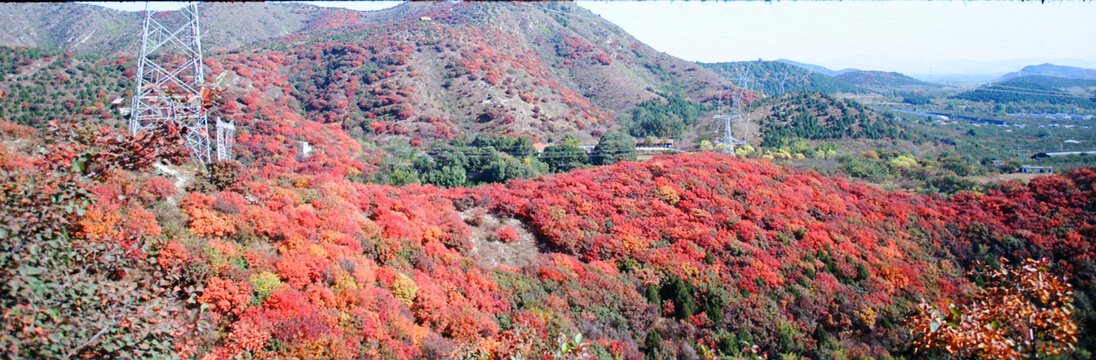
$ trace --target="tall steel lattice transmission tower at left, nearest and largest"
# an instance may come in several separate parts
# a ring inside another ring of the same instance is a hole
[[[136,135],[158,123],[173,122],[183,133],[191,155],[205,166],[209,162],[212,144],[202,97],[205,77],[198,5],[191,2],[173,15],[175,19],[153,19],[148,4],[145,5],[129,132]],[[171,20],[175,22],[169,23]]]

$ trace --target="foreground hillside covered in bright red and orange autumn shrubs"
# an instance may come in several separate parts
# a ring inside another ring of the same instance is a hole
[[[0,125],[16,358],[884,358],[910,356],[921,299],[975,290],[971,261],[1093,281],[1092,171],[950,201],[713,154],[452,190],[222,164],[180,187],[151,169],[185,156],[170,131]]]

